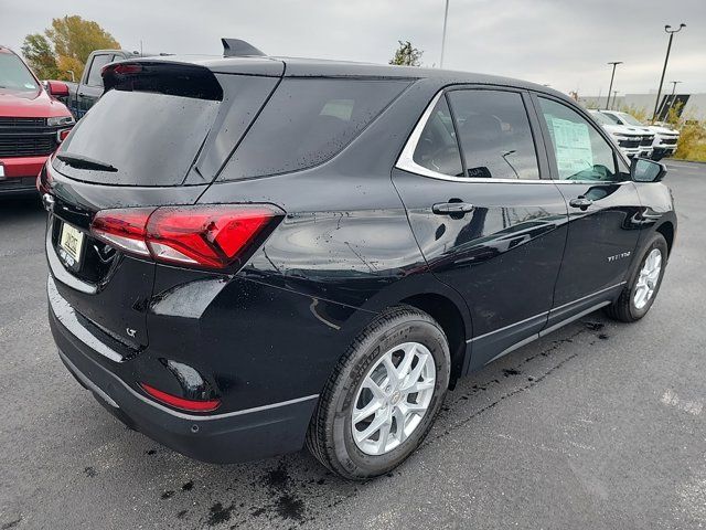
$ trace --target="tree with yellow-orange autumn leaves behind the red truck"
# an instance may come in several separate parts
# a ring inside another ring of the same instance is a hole
[[[76,78],[81,77],[94,50],[119,47],[118,41],[97,22],[74,14],[53,19],[44,35],[26,35],[22,53],[39,77],[71,80],[67,71],[73,71]]]

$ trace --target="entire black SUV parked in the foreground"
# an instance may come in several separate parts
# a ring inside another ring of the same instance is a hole
[[[650,309],[664,167],[569,98],[234,50],[107,65],[38,182],[61,359],[127,425],[216,463],[306,443],[367,478],[458,378]]]

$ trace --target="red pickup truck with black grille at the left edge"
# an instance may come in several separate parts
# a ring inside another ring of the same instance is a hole
[[[56,97],[68,87],[57,81],[45,89],[19,55],[0,45],[0,195],[35,191],[46,158],[74,126]]]

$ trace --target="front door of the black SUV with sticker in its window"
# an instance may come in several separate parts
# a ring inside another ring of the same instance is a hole
[[[638,244],[641,204],[625,161],[588,115],[550,96],[534,102],[569,212],[552,328],[614,299]]]

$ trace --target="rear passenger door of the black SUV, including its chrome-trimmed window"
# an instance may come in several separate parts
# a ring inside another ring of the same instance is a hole
[[[471,311],[467,369],[536,337],[552,307],[567,208],[527,105],[511,88],[441,92],[393,171],[428,266]]]

